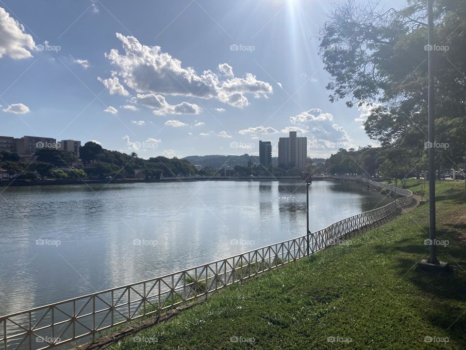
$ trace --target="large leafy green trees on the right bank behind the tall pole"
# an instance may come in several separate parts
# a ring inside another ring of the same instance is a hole
[[[332,80],[330,101],[367,108],[366,134],[381,148],[340,150],[331,173],[460,170],[466,151],[466,1],[434,1],[435,45],[427,45],[427,1],[401,9],[335,3],[320,32],[320,54]],[[428,52],[435,68],[435,143],[428,143]],[[381,168],[382,167],[382,168]]]

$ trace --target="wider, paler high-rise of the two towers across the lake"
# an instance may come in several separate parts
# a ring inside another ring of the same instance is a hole
[[[296,131],[278,141],[278,164],[287,168],[304,168],[307,159],[307,138],[296,137]]]

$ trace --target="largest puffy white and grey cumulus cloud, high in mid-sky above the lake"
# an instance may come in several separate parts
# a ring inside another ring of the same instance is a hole
[[[133,36],[119,33],[116,36],[124,53],[112,49],[105,55],[116,68],[115,75],[137,93],[216,99],[245,107],[249,105],[246,95],[267,97],[273,92],[270,84],[257,80],[251,73],[234,78],[228,64],[218,66],[220,74],[211,70],[198,74],[192,67],[183,67],[180,60],[164,53],[159,46],[143,45]]]

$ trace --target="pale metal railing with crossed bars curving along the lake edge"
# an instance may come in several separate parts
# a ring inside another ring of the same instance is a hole
[[[337,244],[354,230],[393,217],[397,208],[411,204],[412,193],[404,193],[406,197],[384,207],[312,233],[310,253]],[[304,235],[162,277],[1,316],[0,350],[45,350],[77,340],[95,341],[105,330],[147,316],[160,316],[195,298],[206,298],[230,284],[303,258],[306,251]]]

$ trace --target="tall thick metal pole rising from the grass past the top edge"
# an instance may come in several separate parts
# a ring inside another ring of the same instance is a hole
[[[433,0],[427,1],[428,12],[428,59],[429,59],[429,238],[430,238],[430,254],[428,262],[438,264],[437,247],[435,246],[435,101],[434,101],[434,33],[433,33]]]

